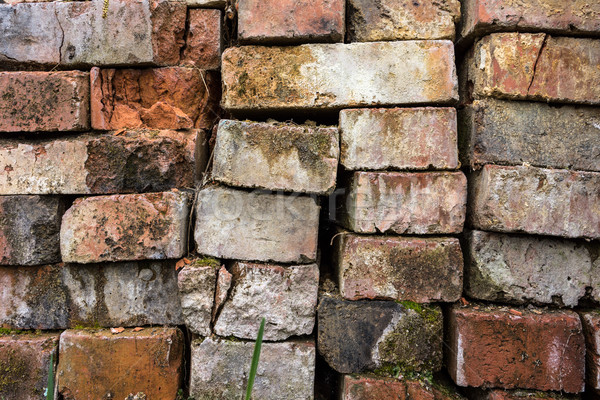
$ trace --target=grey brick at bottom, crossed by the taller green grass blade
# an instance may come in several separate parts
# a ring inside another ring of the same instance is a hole
[[[242,398],[253,350],[253,342],[213,338],[193,341],[190,395],[196,399]],[[314,342],[264,342],[252,397],[312,400],[314,379]]]

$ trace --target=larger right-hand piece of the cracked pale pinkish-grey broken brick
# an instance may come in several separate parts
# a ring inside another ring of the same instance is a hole
[[[265,318],[264,340],[310,335],[315,325],[319,266],[236,262],[233,285],[215,323],[215,333],[256,339]]]

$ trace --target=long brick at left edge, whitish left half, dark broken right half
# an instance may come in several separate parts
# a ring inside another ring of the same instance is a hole
[[[193,187],[201,130],[134,130],[53,140],[0,140],[0,193],[108,194]]]

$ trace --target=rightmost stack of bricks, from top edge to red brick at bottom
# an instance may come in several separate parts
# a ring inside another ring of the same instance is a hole
[[[474,398],[583,392],[584,331],[587,384],[600,388],[598,313],[570,310],[599,300],[600,40],[575,37],[599,34],[599,13],[598,2],[463,2],[474,302],[449,310],[447,363],[457,385],[497,388]]]

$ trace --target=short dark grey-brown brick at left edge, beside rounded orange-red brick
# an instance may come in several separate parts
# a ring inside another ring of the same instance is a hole
[[[0,265],[60,261],[58,197],[0,196]]]

